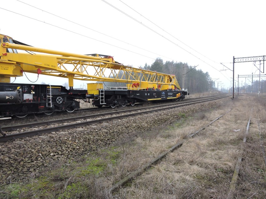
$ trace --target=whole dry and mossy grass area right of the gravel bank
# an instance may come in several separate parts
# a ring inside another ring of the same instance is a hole
[[[178,113],[181,119],[171,121],[168,127],[134,133],[134,140],[128,137],[117,147],[96,149],[75,162],[58,163],[27,184],[1,187],[0,198],[226,198],[252,106],[251,129],[234,197],[265,198],[266,169],[255,121],[259,121],[265,138],[266,110],[264,102],[254,100],[257,99],[237,96],[195,115]],[[186,139],[186,135],[206,126],[229,108],[232,111],[213,125]],[[115,192],[108,191],[112,184],[181,140],[184,141],[181,148],[131,183]]]

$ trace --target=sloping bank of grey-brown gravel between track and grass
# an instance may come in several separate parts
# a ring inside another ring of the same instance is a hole
[[[226,100],[229,98],[0,143],[0,185],[37,177],[58,161],[76,160],[98,148],[131,141],[138,133],[179,120],[179,112],[188,116]]]

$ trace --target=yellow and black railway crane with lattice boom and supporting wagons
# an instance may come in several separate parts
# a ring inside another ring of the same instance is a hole
[[[0,116],[23,117],[29,113],[72,112],[79,100],[97,107],[184,99],[175,75],[133,68],[101,54],[73,54],[32,47],[0,34]],[[28,53],[18,51],[25,50]],[[42,53],[36,54],[35,52]],[[68,78],[61,85],[10,83],[11,77],[35,73]],[[73,89],[74,79],[92,81],[87,90]],[[96,82],[96,83],[95,83]],[[106,87],[105,82],[123,87]]]

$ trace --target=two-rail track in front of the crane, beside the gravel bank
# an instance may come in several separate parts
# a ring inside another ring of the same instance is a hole
[[[36,127],[36,126],[44,126],[44,125],[51,125],[55,123],[62,123],[62,122],[71,122],[70,124],[63,124],[63,125],[58,125],[54,127],[46,127],[46,128],[39,128],[39,129],[33,129],[29,130],[27,132],[20,132],[20,133],[10,133],[5,136],[0,137],[0,142],[6,142],[8,140],[15,140],[18,138],[22,137],[30,137],[34,135],[41,135],[43,133],[51,133],[57,130],[64,130],[64,129],[71,129],[71,128],[76,128],[80,126],[87,126],[91,124],[96,124],[96,123],[101,123],[104,121],[111,121],[111,120],[117,120],[120,118],[125,118],[129,116],[135,116],[135,115],[140,115],[140,114],[146,114],[146,113],[151,113],[155,111],[161,111],[165,109],[172,109],[172,108],[178,108],[182,106],[187,106],[195,103],[201,103],[201,102],[208,102],[211,100],[217,100],[217,99],[222,99],[224,97],[229,97],[230,95],[223,95],[223,96],[216,96],[216,97],[210,97],[208,99],[196,99],[192,100],[190,102],[188,101],[183,101],[183,102],[175,102],[175,103],[170,103],[170,104],[163,104],[163,105],[157,105],[153,107],[141,107],[141,108],[136,108],[133,110],[121,110],[121,111],[112,111],[112,112],[107,112],[107,113],[99,113],[99,114],[93,114],[93,115],[86,115],[86,116],[77,116],[77,117],[71,117],[71,118],[65,118],[65,119],[58,119],[58,120],[53,120],[53,121],[43,121],[43,122],[35,122],[35,123],[30,123],[30,124],[25,124],[25,125],[17,125],[17,126],[7,126],[3,127],[2,131],[7,132],[11,130],[17,130],[17,129],[22,129],[22,128],[29,128],[29,127]],[[147,110],[148,109],[148,110]],[[116,114],[116,116],[111,116]],[[91,118],[96,118],[96,119],[91,119]],[[79,122],[76,122],[76,121]],[[86,120],[86,121],[80,121],[80,120]]]

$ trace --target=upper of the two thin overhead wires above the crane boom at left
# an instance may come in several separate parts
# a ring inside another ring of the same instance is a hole
[[[87,29],[89,29],[89,30],[91,30],[91,31],[95,31],[95,32],[97,32],[97,33],[99,33],[99,34],[101,34],[101,35],[104,35],[104,36],[110,37],[110,38],[115,39],[115,40],[117,40],[117,41],[121,41],[121,42],[123,42],[123,43],[125,43],[125,44],[128,44],[128,45],[134,46],[134,47],[139,48],[139,49],[141,49],[141,50],[145,50],[145,51],[147,51],[147,52],[150,52],[150,53],[153,53],[153,54],[156,54],[156,55],[159,55],[159,56],[165,57],[165,58],[167,58],[167,59],[172,59],[172,58],[166,57],[166,56],[164,56],[164,55],[160,55],[160,54],[155,53],[155,52],[152,52],[152,51],[150,51],[150,50],[146,50],[146,49],[144,49],[144,48],[141,48],[141,47],[138,47],[138,46],[136,46],[136,45],[130,44],[130,43],[126,42],[126,41],[123,41],[123,40],[117,39],[117,38],[115,38],[115,37],[112,37],[112,36],[106,35],[106,34],[104,34],[104,33],[102,33],[102,32],[99,32],[99,31],[93,30],[93,29],[91,29],[91,28],[89,28],[89,27],[87,27],[87,26],[83,26],[83,25],[81,25],[81,24],[79,24],[79,23],[76,23],[76,22],[74,22],[74,21],[68,20],[68,19],[66,19],[66,18],[64,18],[64,17],[60,17],[60,16],[55,15],[55,14],[53,14],[53,13],[51,13],[51,12],[47,12],[47,11],[45,11],[45,10],[42,10],[42,9],[38,8],[38,7],[32,6],[32,5],[28,4],[28,3],[25,3],[25,2],[22,2],[22,1],[19,1],[19,0],[17,0],[17,1],[18,1],[18,2],[21,2],[21,3],[24,3],[24,4],[28,5],[28,6],[34,7],[34,8],[36,8],[36,9],[38,9],[38,10],[43,11],[43,12],[46,12],[46,13],[48,13],[48,14],[51,14],[51,15],[53,15],[53,16],[55,16],[55,17],[59,17],[59,18],[61,18],[61,19],[63,19],[63,20],[66,20],[66,21],[69,21],[69,22],[71,22],[71,23],[74,23],[74,24],[76,24],[76,25],[78,25],[78,26],[81,26],[81,27],[87,28]],[[175,59],[172,59],[172,60],[175,60]],[[175,61],[177,61],[177,60],[175,60]]]

